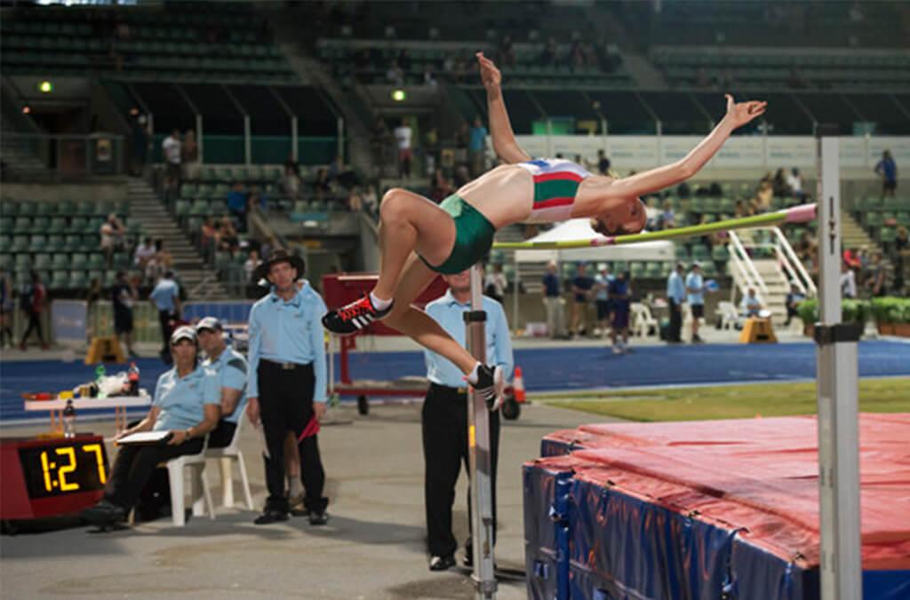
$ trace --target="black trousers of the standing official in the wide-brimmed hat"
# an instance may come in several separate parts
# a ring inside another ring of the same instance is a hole
[[[322,496],[326,484],[326,473],[319,457],[319,443],[316,435],[300,439],[304,427],[313,417],[313,391],[316,375],[313,365],[297,365],[285,369],[277,363],[260,360],[258,371],[259,418],[266,435],[268,457],[266,462],[266,485],[268,486],[269,509],[288,511],[285,495],[284,443],[288,431],[298,438],[300,454],[300,480],[303,482],[304,505],[310,511],[324,511],[329,498]]]

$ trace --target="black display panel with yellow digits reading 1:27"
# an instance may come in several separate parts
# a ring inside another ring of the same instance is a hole
[[[101,443],[45,445],[19,449],[31,498],[92,492],[107,481],[107,455]]]

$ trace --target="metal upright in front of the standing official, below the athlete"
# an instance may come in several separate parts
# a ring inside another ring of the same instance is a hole
[[[464,314],[468,350],[482,364],[487,362],[487,336],[483,310],[480,266],[470,267],[470,311]],[[486,401],[471,394],[468,403],[468,452],[470,455],[470,534],[474,557],[474,585],[479,600],[496,597],[493,572],[493,502],[490,479],[490,415]]]

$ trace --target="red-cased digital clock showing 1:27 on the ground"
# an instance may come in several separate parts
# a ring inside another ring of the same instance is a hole
[[[107,454],[98,435],[3,439],[0,449],[3,519],[74,513],[93,505],[104,493]]]

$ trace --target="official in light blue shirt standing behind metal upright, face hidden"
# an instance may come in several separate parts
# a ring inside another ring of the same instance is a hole
[[[443,275],[449,291],[430,302],[427,314],[441,325],[460,345],[465,345],[464,314],[470,311],[470,271],[456,275]],[[509,325],[502,305],[483,296],[483,310],[487,314],[487,364],[500,365],[506,377],[511,376],[512,357]],[[430,553],[430,571],[444,571],[455,564],[458,541],[452,534],[452,501],[458,482],[461,464],[468,458],[468,394],[467,384],[460,369],[448,359],[424,350],[427,378],[430,389],[420,415],[423,437],[423,458],[426,465],[424,500],[427,516],[427,543]],[[500,446],[500,412],[487,413],[490,425],[490,492],[493,508],[493,532],[496,532],[496,469]],[[470,515],[470,510],[468,511]],[[468,528],[470,531],[470,526]],[[465,552],[470,557],[471,541],[465,541]]]

